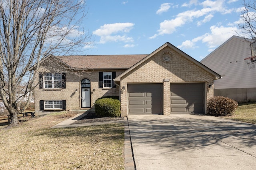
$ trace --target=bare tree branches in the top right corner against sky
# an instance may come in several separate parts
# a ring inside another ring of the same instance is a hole
[[[242,1],[242,15],[238,27],[242,30],[245,38],[256,41],[256,0]]]

